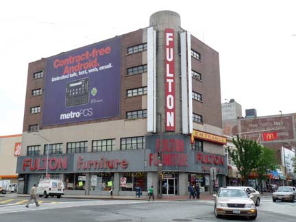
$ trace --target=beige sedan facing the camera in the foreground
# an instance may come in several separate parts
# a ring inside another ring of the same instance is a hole
[[[254,196],[248,195],[244,188],[220,188],[218,194],[213,197],[216,217],[244,216],[253,220],[257,217],[257,208],[251,199]]]

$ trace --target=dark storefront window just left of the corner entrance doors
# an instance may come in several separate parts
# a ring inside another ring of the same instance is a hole
[[[121,177],[126,178],[126,185],[121,186],[121,191],[136,191],[136,187],[140,187],[142,191],[147,191],[147,173],[121,173]]]

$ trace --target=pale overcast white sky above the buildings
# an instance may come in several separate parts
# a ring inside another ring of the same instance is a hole
[[[160,10],[219,52],[221,103],[258,116],[294,113],[296,1],[0,2],[0,136],[21,134],[29,62],[149,26]]]

